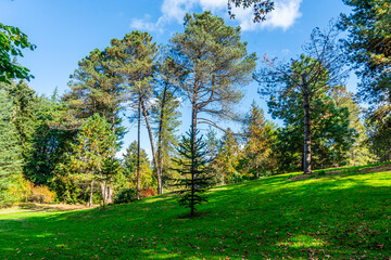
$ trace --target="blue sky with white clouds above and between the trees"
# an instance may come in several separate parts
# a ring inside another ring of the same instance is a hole
[[[68,91],[70,75],[77,63],[96,48],[103,50],[113,38],[123,38],[131,30],[148,31],[155,42],[166,44],[175,32],[184,31],[184,15],[212,11],[228,25],[240,26],[248,52],[278,58],[290,58],[301,53],[315,27],[325,28],[331,18],[350,9],[342,0],[276,0],[276,8],[261,24],[252,23],[250,9],[234,10],[236,20],[227,14],[227,0],[0,0],[0,23],[18,27],[37,49],[24,51],[18,63],[35,76],[29,86],[38,94],[51,95],[55,88]],[[260,67],[260,66],[258,66]],[[348,89],[355,92],[354,76]],[[238,110],[247,113],[255,101],[267,115],[265,100],[257,94],[257,83],[243,87],[244,98]],[[190,107],[181,106],[182,126],[190,127]],[[270,118],[267,115],[267,118]],[[123,150],[136,140],[136,127],[124,122],[128,133]],[[226,122],[224,126],[230,126]],[[240,130],[240,126],[232,126]],[[141,146],[150,152],[148,134],[142,131]]]

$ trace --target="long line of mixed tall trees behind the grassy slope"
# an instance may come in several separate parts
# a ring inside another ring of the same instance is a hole
[[[374,20],[377,5],[346,4],[355,12],[326,30],[315,29],[298,58],[265,57],[257,72],[240,28],[204,12],[186,15],[185,30],[167,46],[131,31],[91,51],[61,96],[38,96],[25,81],[2,83],[0,206],[21,200],[104,205],[162,194],[177,188],[176,180],[201,190],[206,180],[227,184],[390,160],[389,44],[376,43],[390,39],[388,24],[380,23],[382,16]],[[363,26],[379,27],[379,34]],[[341,29],[349,29],[350,38],[340,39]],[[343,84],[348,63],[361,72],[358,95]],[[236,113],[243,87],[253,79],[281,126],[267,120],[255,102],[245,115]],[[363,109],[361,101],[371,106]],[[180,104],[191,108],[182,138]],[[131,115],[124,117],[125,110]],[[138,139],[118,159],[123,120],[137,126]],[[241,130],[223,129],[223,120],[241,123]],[[203,136],[200,125],[210,126]],[[141,127],[151,159],[140,147]]]

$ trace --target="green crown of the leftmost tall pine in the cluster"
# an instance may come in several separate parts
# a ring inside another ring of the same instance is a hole
[[[96,49],[78,63],[78,68],[71,75],[71,91],[65,93],[63,101],[67,102],[76,119],[76,128],[98,113],[106,118],[112,131],[122,136],[118,113],[123,108],[125,89],[123,78],[113,66],[115,58],[110,49]]]

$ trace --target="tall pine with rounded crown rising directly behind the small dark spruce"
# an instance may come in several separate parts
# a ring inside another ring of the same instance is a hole
[[[198,123],[218,127],[199,113],[219,119],[235,117],[232,106],[241,100],[240,87],[251,80],[256,60],[240,40],[239,27],[226,25],[211,12],[187,14],[185,31],[171,39],[172,57],[186,73],[180,88],[191,104],[193,143]]]

